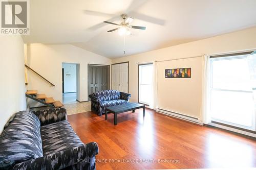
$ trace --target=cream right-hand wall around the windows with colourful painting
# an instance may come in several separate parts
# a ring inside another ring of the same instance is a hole
[[[236,52],[256,48],[256,27],[224,34],[199,41],[170,46],[137,55],[113,59],[113,63],[129,61],[129,92],[131,101],[138,100],[138,65],[153,62],[201,56],[205,53],[216,54]],[[129,50],[129,49],[127,49]],[[201,107],[201,58],[158,62],[158,108],[183,113],[199,118]],[[165,79],[164,69],[191,67],[191,79]],[[132,81],[131,81],[132,80]]]

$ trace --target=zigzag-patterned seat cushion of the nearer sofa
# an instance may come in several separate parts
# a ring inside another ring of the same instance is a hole
[[[68,120],[42,126],[41,138],[44,155],[83,145]]]

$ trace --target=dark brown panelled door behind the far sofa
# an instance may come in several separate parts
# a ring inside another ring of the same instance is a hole
[[[107,89],[109,89],[109,67],[89,65],[88,95]]]

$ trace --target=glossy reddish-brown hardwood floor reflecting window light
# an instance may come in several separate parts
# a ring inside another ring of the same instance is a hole
[[[98,143],[97,169],[256,167],[255,140],[150,109],[144,119],[142,109],[118,114],[116,126],[111,113],[108,120],[92,112],[68,120],[84,143]]]

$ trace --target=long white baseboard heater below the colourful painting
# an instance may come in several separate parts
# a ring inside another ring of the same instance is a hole
[[[199,123],[199,120],[196,117],[187,116],[187,115],[184,115],[184,114],[181,114],[181,113],[176,113],[176,112],[172,112],[172,111],[168,111],[168,110],[164,110],[164,109],[160,109],[160,108],[157,108],[156,111],[160,112],[160,113],[163,113],[163,114],[166,114],[166,115],[169,115],[169,116],[173,116],[173,117],[176,117],[176,118],[179,118],[179,119],[186,120],[186,121],[191,122],[191,123],[203,125],[203,124]]]

